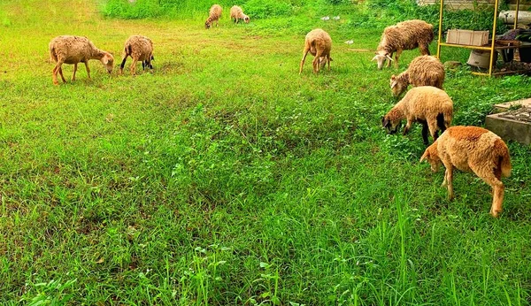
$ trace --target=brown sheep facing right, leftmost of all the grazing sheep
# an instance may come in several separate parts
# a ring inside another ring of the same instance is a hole
[[[87,75],[90,79],[89,59],[97,59],[105,66],[109,74],[112,73],[114,57],[109,52],[99,50],[94,43],[90,42],[87,37],[62,35],[57,36],[50,41],[50,59],[56,65],[52,71],[52,80],[58,85],[58,73],[61,75],[63,82],[66,82],[63,76],[61,65],[73,65],[72,80],[75,80],[78,63],[84,63],[87,68]]]

